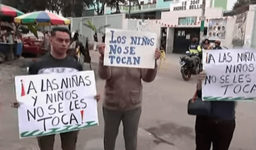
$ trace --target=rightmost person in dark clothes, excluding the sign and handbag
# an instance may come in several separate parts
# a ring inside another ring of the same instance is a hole
[[[197,91],[193,99],[202,99],[202,81],[206,73],[195,76]],[[212,89],[218,90],[218,89]],[[233,137],[235,122],[234,101],[212,101],[212,111],[209,116],[196,116],[196,150],[228,150]]]

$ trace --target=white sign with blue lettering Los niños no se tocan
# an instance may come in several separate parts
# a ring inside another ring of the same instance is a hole
[[[154,68],[155,33],[106,29],[104,65]]]

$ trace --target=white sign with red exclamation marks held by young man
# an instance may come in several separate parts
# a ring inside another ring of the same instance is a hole
[[[98,125],[93,71],[15,77],[20,138]]]

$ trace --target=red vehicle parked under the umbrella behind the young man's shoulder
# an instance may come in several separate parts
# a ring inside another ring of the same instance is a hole
[[[44,35],[42,32],[38,32],[38,39],[34,34],[29,33],[23,34],[21,40],[23,43],[23,56],[39,57],[48,52],[43,46]]]

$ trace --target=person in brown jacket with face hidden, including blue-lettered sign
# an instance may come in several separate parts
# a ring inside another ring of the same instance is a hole
[[[156,60],[160,58],[160,51],[155,48],[156,36],[107,29],[105,43],[106,47],[102,45],[99,49],[98,70],[100,78],[106,80],[104,149],[114,150],[122,120],[126,150],[136,150],[142,105],[141,80],[152,82],[155,79]]]

